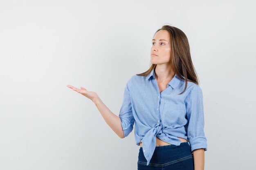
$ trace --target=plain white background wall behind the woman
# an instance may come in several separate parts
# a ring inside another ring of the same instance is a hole
[[[120,139],[124,87],[150,66],[164,24],[187,35],[204,95],[205,170],[255,167],[253,0],[0,0],[0,170],[135,170],[134,130]]]

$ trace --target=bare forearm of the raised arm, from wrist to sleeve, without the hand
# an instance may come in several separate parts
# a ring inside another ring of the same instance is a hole
[[[120,137],[124,138],[124,131],[121,126],[121,119],[109,110],[109,108],[97,97],[94,101],[103,119],[106,121],[108,126]]]

